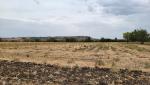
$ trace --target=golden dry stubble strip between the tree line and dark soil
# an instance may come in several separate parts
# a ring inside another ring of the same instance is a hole
[[[0,59],[150,72],[150,43],[1,42]]]

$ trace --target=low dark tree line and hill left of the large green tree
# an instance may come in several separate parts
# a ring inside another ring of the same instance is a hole
[[[73,38],[73,37],[67,37],[67,38],[22,38],[18,40],[13,40],[13,39],[1,39],[0,42],[125,42],[124,39],[110,39],[110,38],[101,38],[101,39],[93,39],[91,37],[87,37],[85,39],[78,39],[78,38]]]

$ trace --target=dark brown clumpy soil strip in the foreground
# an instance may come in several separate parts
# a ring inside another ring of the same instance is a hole
[[[150,73],[0,61],[0,85],[150,85]]]

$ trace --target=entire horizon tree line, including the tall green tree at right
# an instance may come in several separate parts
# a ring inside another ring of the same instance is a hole
[[[144,42],[150,41],[150,34],[145,29],[135,29],[131,32],[123,33],[124,39],[100,38],[94,39],[89,36],[80,37],[23,37],[23,38],[0,38],[0,42]]]

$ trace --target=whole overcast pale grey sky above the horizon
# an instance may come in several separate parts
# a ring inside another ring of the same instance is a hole
[[[150,0],[0,0],[0,37],[122,38],[150,32]]]

